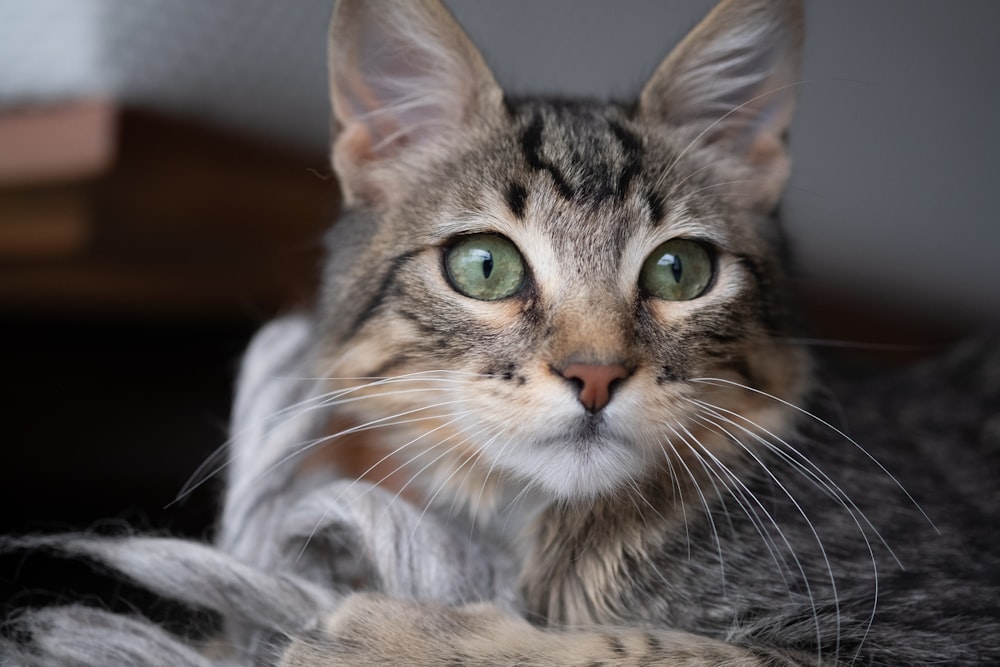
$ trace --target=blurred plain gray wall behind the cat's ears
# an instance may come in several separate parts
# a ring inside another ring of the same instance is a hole
[[[449,0],[516,93],[633,96],[711,0]],[[325,150],[330,0],[0,0],[0,107],[87,94]],[[806,275],[1000,315],[1000,1],[809,0]],[[998,318],[1000,319],[1000,318]]]

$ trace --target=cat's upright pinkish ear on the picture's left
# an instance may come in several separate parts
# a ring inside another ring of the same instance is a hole
[[[438,0],[339,0],[328,65],[348,201],[384,196],[394,161],[502,109],[485,61]]]

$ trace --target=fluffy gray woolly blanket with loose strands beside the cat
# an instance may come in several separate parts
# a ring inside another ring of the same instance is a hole
[[[6,540],[95,560],[156,593],[218,613],[225,631],[193,645],[138,616],[82,605],[16,620],[0,665],[113,667],[272,665],[353,590],[447,604],[516,608],[513,559],[489,527],[424,511],[332,471],[293,476],[296,455],[322,437],[326,397],[313,376],[312,322],[272,322],[244,359],[214,545],[64,535]]]

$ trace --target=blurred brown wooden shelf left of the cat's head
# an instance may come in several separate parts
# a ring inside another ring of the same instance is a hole
[[[7,314],[256,320],[312,294],[325,155],[88,102],[0,113],[0,156]]]

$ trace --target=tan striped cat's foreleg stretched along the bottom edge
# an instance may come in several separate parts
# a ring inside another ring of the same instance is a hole
[[[358,594],[347,598],[320,630],[293,639],[280,664],[773,667],[817,662],[815,656],[745,648],[687,632],[545,630],[488,603],[451,608]]]

